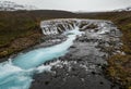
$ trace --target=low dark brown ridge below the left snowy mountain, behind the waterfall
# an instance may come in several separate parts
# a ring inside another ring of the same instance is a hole
[[[43,18],[43,20],[50,20],[50,18],[67,18],[67,17],[76,17],[75,13],[68,12],[68,11],[60,11],[60,10],[22,10],[22,11],[0,11],[0,15],[10,15],[15,17],[19,16],[28,16],[34,18]],[[10,17],[8,16],[8,17]]]

